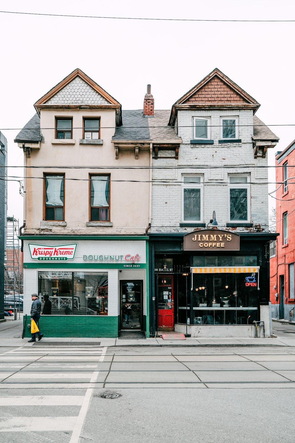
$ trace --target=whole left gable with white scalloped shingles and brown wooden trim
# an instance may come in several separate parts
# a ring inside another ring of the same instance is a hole
[[[83,100],[79,95],[83,96]],[[116,124],[122,124],[122,106],[119,101],[79,68],[36,101],[34,107],[39,115],[41,109],[116,109]]]

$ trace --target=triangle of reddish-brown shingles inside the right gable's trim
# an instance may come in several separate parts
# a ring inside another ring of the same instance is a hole
[[[215,76],[199,89],[186,103],[248,103],[222,80]]]

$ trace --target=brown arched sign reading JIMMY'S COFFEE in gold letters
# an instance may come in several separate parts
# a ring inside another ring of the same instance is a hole
[[[239,251],[240,236],[218,229],[204,229],[184,235],[184,251]]]

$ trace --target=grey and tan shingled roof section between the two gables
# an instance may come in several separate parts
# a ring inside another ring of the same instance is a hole
[[[143,116],[142,109],[122,111],[123,125],[112,140],[167,140],[182,143],[174,128],[168,126],[170,110],[155,110],[154,116]]]

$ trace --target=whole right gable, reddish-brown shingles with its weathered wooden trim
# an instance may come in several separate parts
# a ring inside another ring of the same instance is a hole
[[[215,68],[174,103],[169,125],[174,125],[180,109],[253,109],[255,113],[259,106],[244,89]]]

